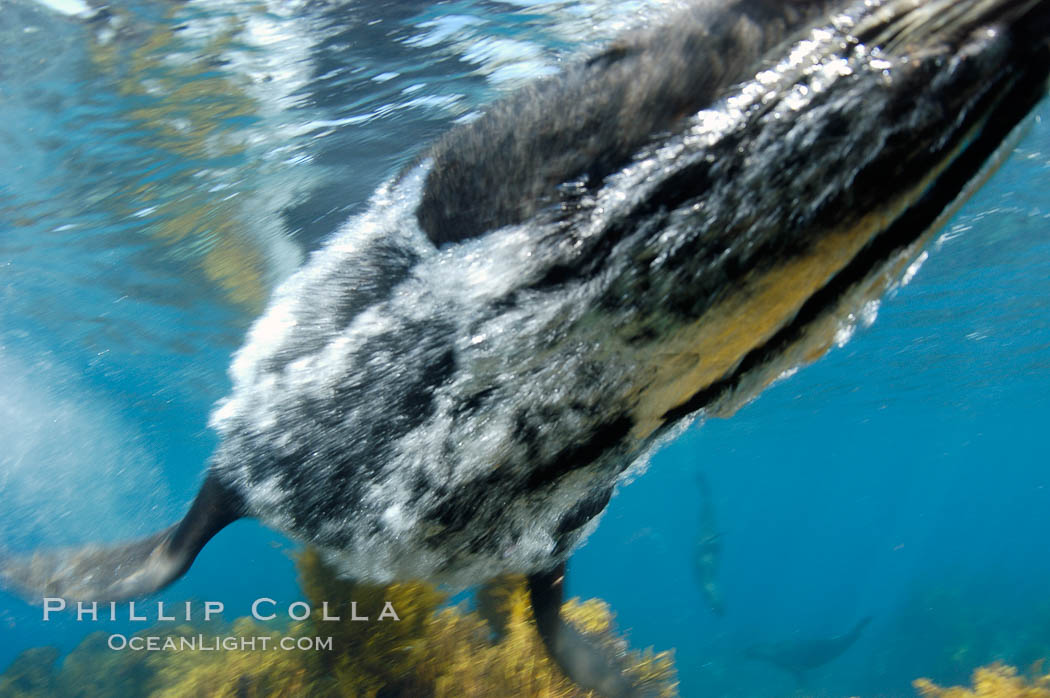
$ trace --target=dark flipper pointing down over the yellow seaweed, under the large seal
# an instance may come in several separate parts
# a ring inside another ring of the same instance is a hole
[[[550,572],[529,575],[532,613],[543,643],[554,663],[580,688],[604,698],[633,698],[642,695],[624,674],[623,667],[605,648],[588,639],[561,615],[565,564]]]

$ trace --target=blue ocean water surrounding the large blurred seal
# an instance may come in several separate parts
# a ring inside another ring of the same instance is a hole
[[[177,519],[274,284],[449,125],[659,4],[215,0],[106,23],[5,4],[3,545]],[[684,696],[906,696],[1050,657],[1047,115],[872,326],[665,447],[574,556],[570,594],[607,600],[633,647],[674,648]],[[722,616],[694,564],[709,507]],[[161,598],[296,599],[293,549],[238,523]],[[867,616],[804,685],[748,658]],[[2,594],[0,667],[99,627],[136,629]]]

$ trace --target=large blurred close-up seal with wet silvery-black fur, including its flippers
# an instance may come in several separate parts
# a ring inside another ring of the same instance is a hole
[[[4,579],[148,594],[255,516],[359,579],[524,572],[562,669],[636,694],[559,615],[573,548],[684,421],[895,282],[1008,153],[1048,37],[1038,0],[709,2],[525,87],[276,291],[180,523]]]

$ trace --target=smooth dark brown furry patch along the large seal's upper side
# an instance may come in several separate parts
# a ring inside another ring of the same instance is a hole
[[[708,3],[522,88],[426,152],[420,226],[440,246],[571,206],[754,76],[765,51],[824,4]]]

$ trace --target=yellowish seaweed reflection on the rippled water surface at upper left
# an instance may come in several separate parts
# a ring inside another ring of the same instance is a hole
[[[272,107],[253,94],[250,77],[224,67],[247,50],[245,20],[214,19],[209,35],[184,30],[181,4],[151,23],[112,12],[129,28],[94,36],[88,56],[123,110],[128,131],[120,140],[139,156],[133,171],[107,172],[96,198],[258,313],[281,273],[268,248],[284,237],[279,210],[264,202],[282,200],[293,183],[264,190],[275,166],[251,144]],[[284,247],[294,268],[297,249]]]

